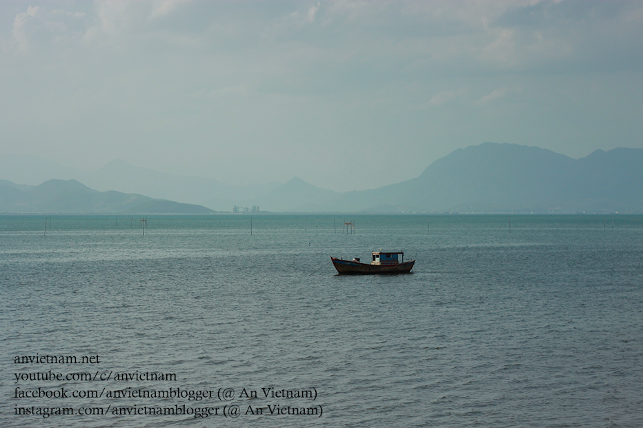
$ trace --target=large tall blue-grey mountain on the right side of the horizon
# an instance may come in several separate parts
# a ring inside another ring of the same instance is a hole
[[[328,210],[357,212],[614,212],[643,210],[643,149],[572,159],[483,143],[438,159],[416,179],[346,192]]]

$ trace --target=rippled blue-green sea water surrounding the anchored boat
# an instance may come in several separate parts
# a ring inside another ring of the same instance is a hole
[[[643,216],[147,220],[0,216],[0,426],[643,426]],[[379,249],[413,274],[330,264]],[[14,363],[47,355],[99,363]],[[113,396],[176,388],[215,396]],[[219,409],[136,413],[184,405]]]

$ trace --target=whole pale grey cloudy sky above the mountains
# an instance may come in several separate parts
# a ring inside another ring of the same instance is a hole
[[[346,191],[486,141],[643,148],[643,2],[0,2],[0,156]]]

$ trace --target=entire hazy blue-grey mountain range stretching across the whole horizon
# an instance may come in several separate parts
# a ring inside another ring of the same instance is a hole
[[[33,180],[33,165],[41,177],[59,180],[15,184]],[[0,212],[204,213],[230,212],[233,205],[270,212],[643,212],[642,166],[643,149],[596,150],[572,159],[539,147],[482,143],[451,152],[415,179],[334,192],[297,177],[281,185],[230,186],[120,160],[80,172],[3,156],[0,178],[12,182],[0,180]]]

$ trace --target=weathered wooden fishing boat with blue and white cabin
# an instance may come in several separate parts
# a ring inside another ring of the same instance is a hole
[[[400,261],[402,256],[402,261]],[[340,275],[377,275],[377,274],[410,274],[415,260],[404,261],[404,252],[373,252],[370,263],[361,263],[359,258],[352,261],[331,257],[333,266]]]

